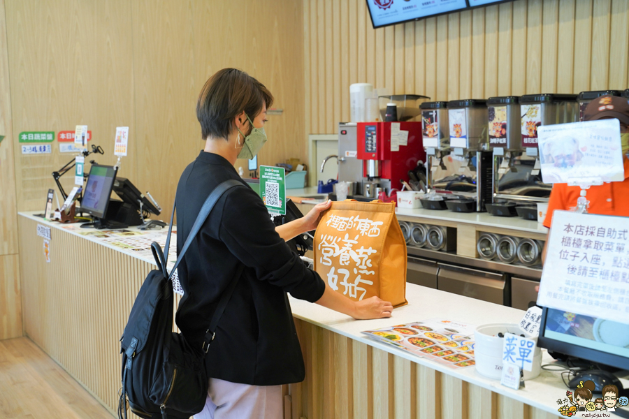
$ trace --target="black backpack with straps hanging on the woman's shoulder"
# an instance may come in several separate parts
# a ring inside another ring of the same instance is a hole
[[[133,302],[129,321],[120,338],[122,353],[122,388],[118,404],[118,418],[126,419],[127,402],[131,411],[140,418],[189,418],[199,413],[208,395],[208,377],[205,373],[205,353],[214,339],[214,332],[223,311],[231,298],[244,266],[238,267],[219,301],[210,326],[205,332],[203,346],[193,348],[180,333],[173,332],[172,276],[184,257],[192,240],[224,192],[234,186],[243,186],[231,179],[219,184],[203,203],[201,211],[187,237],[171,274],[168,274],[168,246],[171,241],[173,218],[166,239],[166,258],[159,244],[152,242],[151,250],[157,270],[147,275]],[[175,207],[173,206],[173,215]]]

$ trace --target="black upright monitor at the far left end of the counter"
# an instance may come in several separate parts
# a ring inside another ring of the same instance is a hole
[[[92,164],[81,200],[81,211],[97,219],[104,219],[115,179],[116,169],[112,166]]]

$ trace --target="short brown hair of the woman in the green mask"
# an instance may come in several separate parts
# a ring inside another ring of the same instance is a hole
[[[227,139],[233,118],[244,110],[253,120],[265,104],[270,108],[273,95],[264,84],[236,68],[217,71],[205,82],[196,103],[203,140],[210,135]]]

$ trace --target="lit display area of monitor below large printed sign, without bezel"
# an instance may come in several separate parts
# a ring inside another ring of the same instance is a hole
[[[629,358],[629,325],[624,323],[548,309],[544,337]]]

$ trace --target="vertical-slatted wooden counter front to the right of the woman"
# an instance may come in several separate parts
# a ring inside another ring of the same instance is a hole
[[[551,413],[295,320],[305,360],[291,415],[354,419],[551,419]]]

